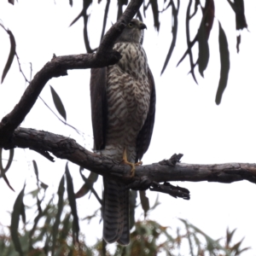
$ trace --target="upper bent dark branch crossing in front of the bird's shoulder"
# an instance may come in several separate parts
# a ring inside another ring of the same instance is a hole
[[[68,69],[81,69],[91,67],[106,67],[113,65],[121,58],[121,55],[113,51],[113,44],[119,37],[125,25],[137,13],[143,0],[132,0],[124,15],[114,24],[102,39],[96,54],[89,55],[68,55],[55,57],[35,75],[32,82],[26,88],[20,102],[11,113],[7,114],[0,123],[0,138],[8,141],[13,131],[25,119],[26,114],[32,109],[44,85],[49,79],[67,75]]]

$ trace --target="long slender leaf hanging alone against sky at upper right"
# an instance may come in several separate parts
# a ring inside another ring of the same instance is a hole
[[[228,41],[225,32],[218,22],[218,45],[219,45],[219,55],[220,55],[220,78],[218,82],[218,90],[215,98],[215,102],[218,105],[221,102],[224,90],[228,83],[229,72],[230,72],[230,52]]]

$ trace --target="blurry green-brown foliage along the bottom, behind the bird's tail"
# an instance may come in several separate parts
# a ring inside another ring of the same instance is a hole
[[[66,170],[67,172],[67,170]],[[66,173],[67,190],[72,184],[72,179]],[[47,189],[47,188],[46,188]],[[58,189],[58,202],[55,196],[46,203],[44,195],[45,187],[39,186],[38,189],[25,195],[24,189],[21,190],[15,201],[15,211],[12,213],[12,222],[9,232],[6,228],[0,231],[0,252],[3,256],[12,255],[157,255],[166,253],[166,255],[241,255],[249,248],[242,248],[241,241],[235,244],[232,238],[236,230],[227,230],[224,239],[214,240],[207,236],[203,231],[189,224],[187,220],[180,219],[183,228],[172,230],[170,227],[162,226],[154,220],[146,217],[143,221],[137,220],[134,228],[131,230],[131,242],[127,247],[117,246],[115,252],[109,251],[108,245],[103,240],[96,241],[96,244],[89,247],[86,244],[86,236],[77,230],[74,230],[74,224],[77,224],[77,216],[74,216],[71,201],[64,198],[64,177],[61,178]],[[69,192],[67,191],[67,194]],[[38,197],[42,197],[41,200]],[[24,205],[25,197],[32,197],[30,203],[34,201],[34,206]],[[44,207],[42,201],[44,200]],[[20,207],[17,207],[19,205]],[[154,207],[159,205],[155,202]],[[152,207],[150,210],[153,210]],[[38,214],[31,221],[26,222],[24,209],[34,211],[37,208]],[[96,211],[97,212],[97,211]],[[96,212],[88,218],[96,218]],[[17,229],[20,215],[23,220],[23,227]],[[82,221],[82,220],[80,220]],[[78,236],[77,236],[78,235]],[[12,239],[11,239],[12,238]],[[18,249],[17,249],[18,248]],[[19,253],[17,253],[18,251]]]

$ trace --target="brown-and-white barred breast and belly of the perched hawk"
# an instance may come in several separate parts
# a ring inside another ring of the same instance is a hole
[[[134,162],[137,135],[147,118],[150,100],[147,56],[141,44],[118,43],[113,49],[122,58],[108,67],[108,125],[102,153],[122,160],[126,148],[127,159]]]

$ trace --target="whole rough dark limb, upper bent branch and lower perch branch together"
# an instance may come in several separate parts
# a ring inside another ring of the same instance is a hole
[[[136,15],[142,3],[143,0],[131,0],[125,13],[102,39],[96,54],[54,56],[51,61],[45,64],[32,79],[13,111],[2,119],[0,123],[0,147],[30,148],[44,155],[48,160],[53,160],[49,154],[51,153],[91,172],[127,183],[131,189],[148,189],[150,187],[152,190],[186,199],[189,198],[188,190],[175,188],[169,183],[159,183],[166,181],[232,183],[244,179],[256,183],[256,164],[189,165],[179,163],[179,159],[176,160],[177,164],[176,162],[173,164],[173,158],[148,166],[137,166],[135,177],[131,177],[130,166],[92,153],[71,138],[45,131],[16,129],[37,101],[41,90],[49,79],[67,75],[68,69],[106,67],[119,61],[121,56],[118,52],[113,51],[113,44],[125,25]]]

